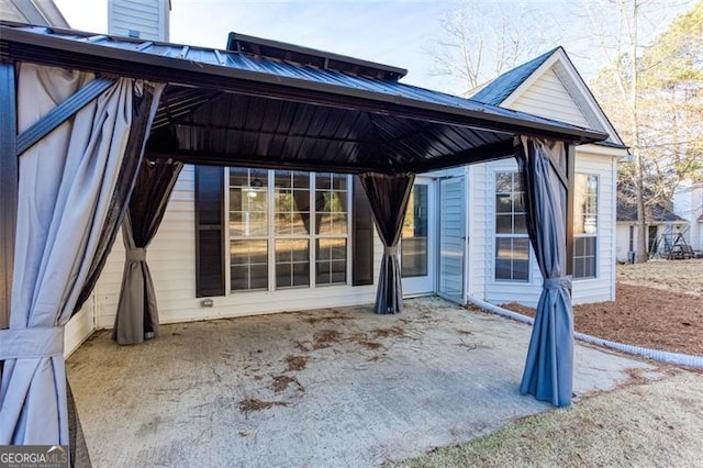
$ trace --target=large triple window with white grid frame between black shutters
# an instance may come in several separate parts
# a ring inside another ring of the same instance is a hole
[[[348,194],[345,175],[231,168],[231,290],[346,285]]]

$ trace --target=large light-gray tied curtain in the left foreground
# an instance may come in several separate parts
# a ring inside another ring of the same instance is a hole
[[[91,79],[21,64],[19,130]],[[145,96],[153,98],[146,127],[156,110],[163,86],[150,88],[118,80],[20,158],[12,310],[10,328],[0,331],[0,444],[70,442],[64,325],[100,255],[134,110]]]

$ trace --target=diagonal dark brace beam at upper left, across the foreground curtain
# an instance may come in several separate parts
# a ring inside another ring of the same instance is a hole
[[[74,116],[114,82],[115,79],[96,78],[76,91],[70,98],[52,109],[46,115],[18,136],[18,156],[22,155],[22,153],[27,151],[32,145],[36,144],[44,136],[56,130],[62,123]]]

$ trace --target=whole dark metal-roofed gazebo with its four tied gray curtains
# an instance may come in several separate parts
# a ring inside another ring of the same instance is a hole
[[[606,135],[405,73],[234,33],[219,51],[0,23],[0,444],[69,443],[63,326],[123,224],[119,325],[149,322],[144,246],[182,164],[357,175],[386,246],[375,311],[397,313],[414,175],[516,157],[545,278],[521,391],[570,404],[573,146]]]

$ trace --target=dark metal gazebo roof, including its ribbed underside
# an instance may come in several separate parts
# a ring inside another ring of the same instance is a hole
[[[0,23],[5,59],[168,82],[148,149],[190,163],[420,172],[511,156],[517,134],[606,136],[408,86],[394,67],[247,36],[238,47]]]

